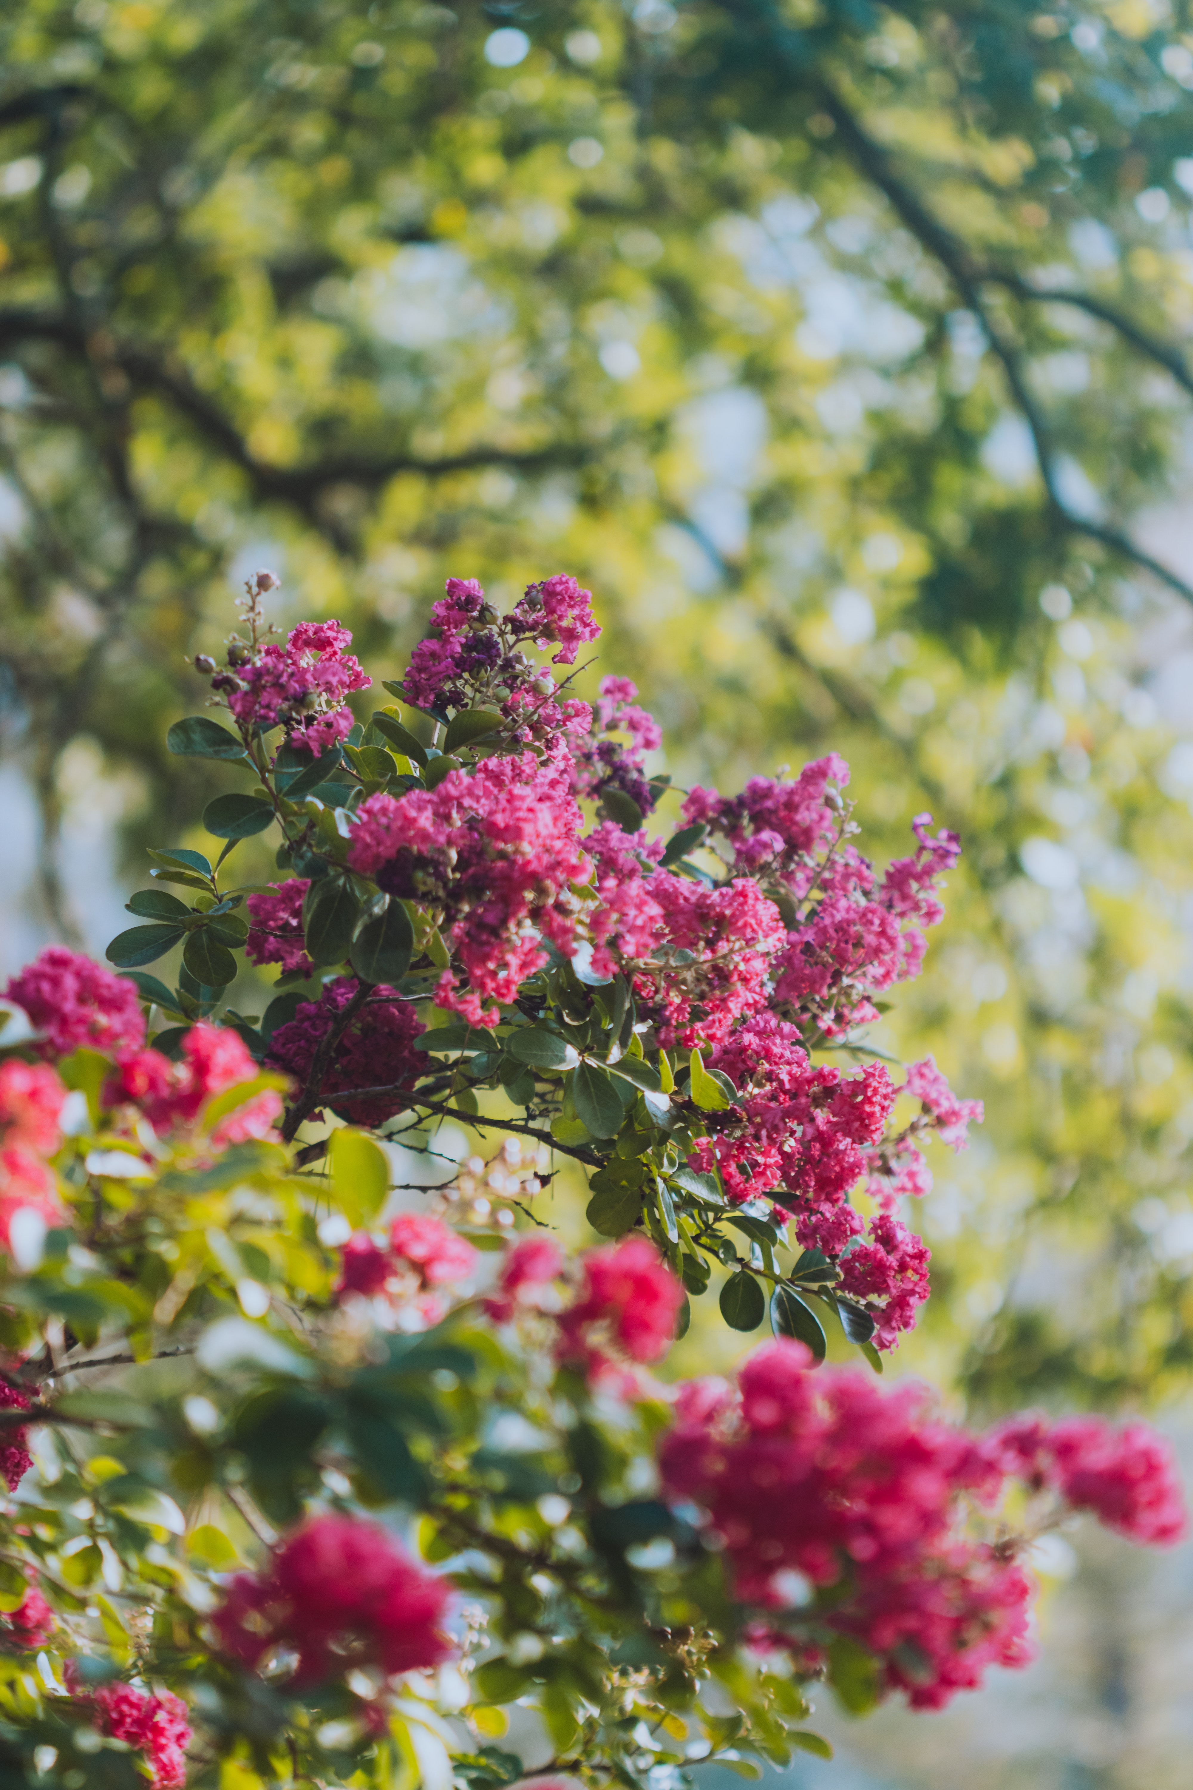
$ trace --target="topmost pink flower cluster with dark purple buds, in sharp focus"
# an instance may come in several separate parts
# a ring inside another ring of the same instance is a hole
[[[592,592],[562,573],[528,585],[508,616],[497,614],[476,578],[449,578],[447,596],[431,609],[431,626],[436,632],[415,646],[402,684],[415,709],[445,714],[490,698],[508,716],[529,711],[537,720],[544,720],[537,714],[544,702],[554,705],[556,684],[519,643],[533,641],[540,652],[558,646],[554,664],[571,666],[581,643],[601,632],[592,619]],[[580,718],[587,732],[588,705],[567,703],[556,725]]]

